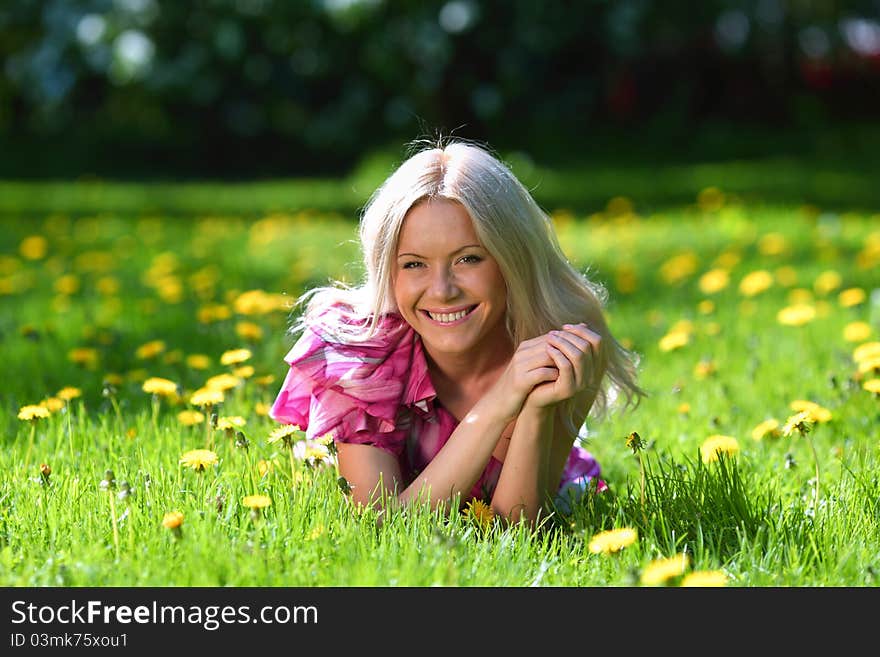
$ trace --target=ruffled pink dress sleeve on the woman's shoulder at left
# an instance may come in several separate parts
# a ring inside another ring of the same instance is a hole
[[[407,389],[413,332],[395,324],[379,338],[345,343],[320,326],[306,328],[285,357],[290,365],[269,411],[299,425],[308,438],[373,445],[400,456],[405,430],[398,415]]]

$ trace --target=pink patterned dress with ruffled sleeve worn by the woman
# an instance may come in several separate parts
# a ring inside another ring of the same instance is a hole
[[[354,344],[338,336],[336,327],[346,321],[338,308],[330,308],[305,329],[284,359],[290,369],[269,415],[299,425],[308,438],[329,433],[337,443],[373,445],[393,454],[408,486],[458,420],[437,399],[421,339],[403,318],[383,316],[374,337]],[[489,501],[501,465],[489,459],[468,499]],[[592,455],[573,445],[559,491],[583,489],[598,475]]]

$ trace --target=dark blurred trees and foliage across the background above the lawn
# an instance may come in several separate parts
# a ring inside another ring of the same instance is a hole
[[[288,175],[433,128],[564,151],[606,128],[880,111],[878,0],[5,0],[0,175]]]

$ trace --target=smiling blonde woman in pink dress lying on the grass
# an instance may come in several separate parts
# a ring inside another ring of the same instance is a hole
[[[377,508],[480,498],[534,524],[601,488],[578,428],[638,401],[635,360],[513,173],[472,143],[423,147],[373,194],[360,241],[360,286],[300,299],[270,415],[332,435],[353,499]]]

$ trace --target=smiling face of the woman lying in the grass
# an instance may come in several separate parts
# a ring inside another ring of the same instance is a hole
[[[509,344],[507,286],[460,203],[413,206],[397,245],[394,298],[428,353],[467,354]]]

